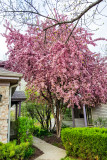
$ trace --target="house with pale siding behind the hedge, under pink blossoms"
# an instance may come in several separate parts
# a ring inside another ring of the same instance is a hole
[[[97,107],[85,107],[83,109],[72,109],[74,127],[85,127],[93,125],[98,118],[107,119],[107,104]],[[107,124],[105,124],[106,126]],[[106,126],[107,127],[107,126]]]

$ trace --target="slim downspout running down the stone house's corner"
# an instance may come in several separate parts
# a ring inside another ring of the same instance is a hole
[[[17,87],[17,86],[18,86],[18,84],[15,84],[13,86],[10,86],[10,89],[9,89],[8,138],[7,138],[7,142],[10,141],[10,108],[11,108],[12,88]]]

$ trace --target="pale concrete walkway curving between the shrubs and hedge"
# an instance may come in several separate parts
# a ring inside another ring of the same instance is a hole
[[[44,154],[35,160],[60,160],[66,156],[64,149],[55,147],[37,137],[33,138],[33,145],[44,152]]]

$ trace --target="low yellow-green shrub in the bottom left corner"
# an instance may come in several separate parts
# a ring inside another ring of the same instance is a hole
[[[30,152],[29,152],[30,150]],[[24,160],[33,154],[29,142],[16,145],[16,141],[6,144],[0,143],[0,160]]]

